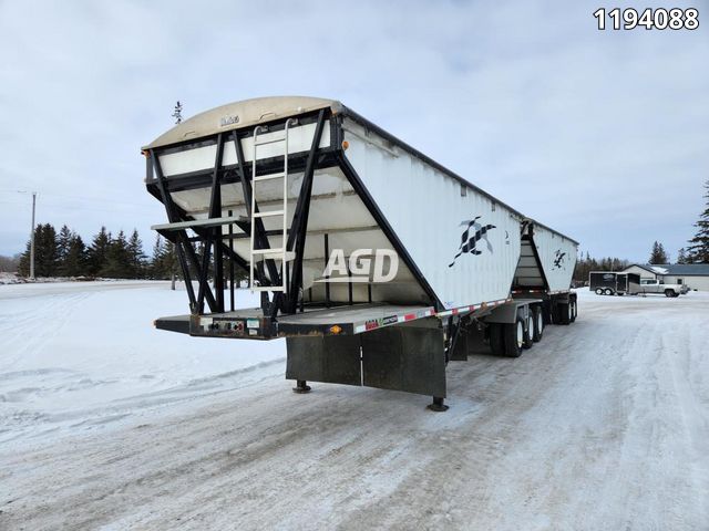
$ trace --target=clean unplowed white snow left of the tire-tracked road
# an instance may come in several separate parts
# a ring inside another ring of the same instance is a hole
[[[258,305],[248,291],[239,306]],[[285,342],[236,343],[155,330],[188,313],[169,282],[0,285],[0,445],[114,427],[156,406],[282,374]]]

